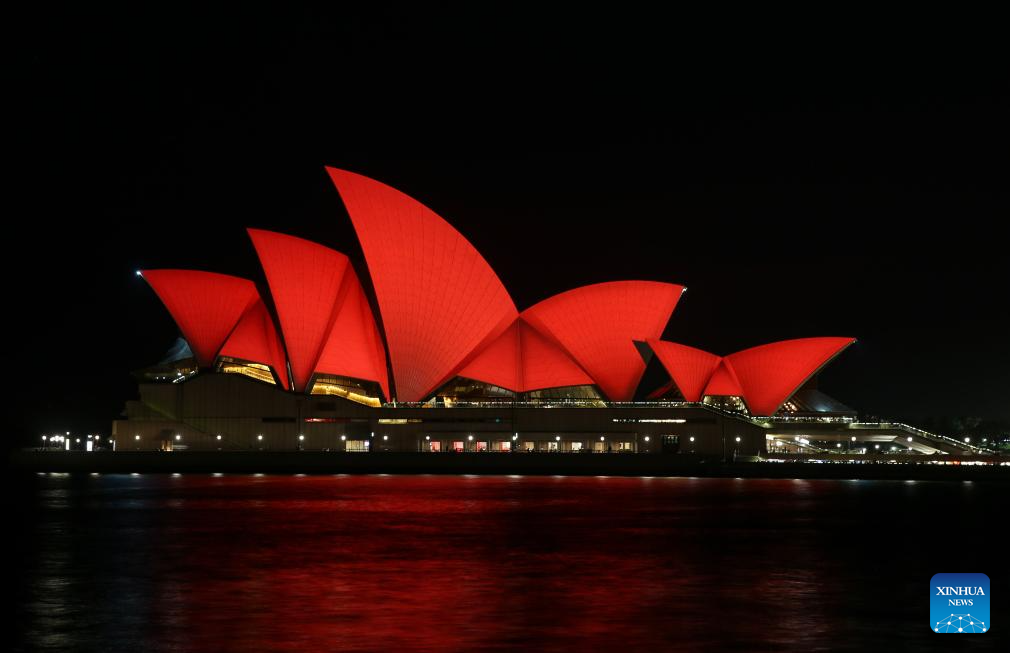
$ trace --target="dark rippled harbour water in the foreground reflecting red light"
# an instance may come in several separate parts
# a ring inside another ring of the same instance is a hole
[[[140,651],[938,647],[929,578],[992,571],[948,568],[935,518],[985,541],[1005,492],[190,474],[17,489],[15,648]]]

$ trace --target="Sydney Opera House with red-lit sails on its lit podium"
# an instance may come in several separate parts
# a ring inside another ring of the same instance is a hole
[[[181,338],[136,372],[139,399],[113,424],[118,450],[943,451],[927,434],[861,425],[818,390],[818,371],[851,337],[728,355],[666,341],[686,289],[655,281],[576,288],[519,310],[430,209],[327,172],[365,254],[358,271],[339,251],[249,229],[260,284],[137,273]]]

